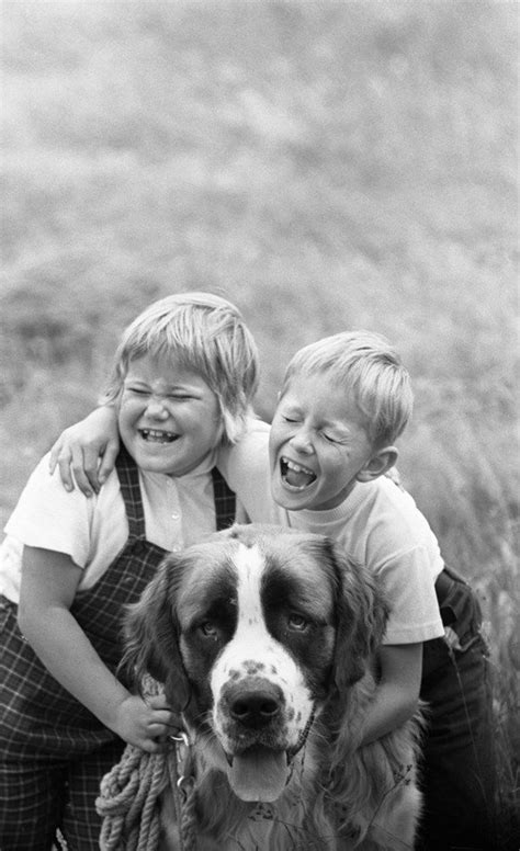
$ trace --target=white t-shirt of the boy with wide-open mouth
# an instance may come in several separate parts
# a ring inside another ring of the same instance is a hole
[[[252,522],[278,523],[337,541],[382,585],[391,606],[385,644],[414,644],[444,634],[434,582],[444,567],[439,544],[409,493],[386,476],[358,483],[330,511],[285,511],[271,497],[269,430],[251,421],[218,466]]]

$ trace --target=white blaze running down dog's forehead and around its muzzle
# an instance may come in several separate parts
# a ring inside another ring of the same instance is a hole
[[[278,685],[284,697],[287,747],[295,745],[313,711],[309,690],[298,666],[280,642],[269,633],[261,604],[261,579],[265,570],[263,556],[257,546],[239,544],[234,558],[238,576],[238,623],[235,635],[225,647],[212,672],[214,722],[225,736],[219,697],[233,680],[239,683],[248,676],[264,677]],[[251,674],[251,662],[259,666]],[[238,673],[238,677],[237,677]]]

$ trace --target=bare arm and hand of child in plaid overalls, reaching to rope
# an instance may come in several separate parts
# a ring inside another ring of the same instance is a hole
[[[19,624],[53,677],[106,727],[143,750],[160,749],[157,737],[172,720],[166,699],[146,704],[102,662],[69,608],[81,568],[64,553],[24,547]]]

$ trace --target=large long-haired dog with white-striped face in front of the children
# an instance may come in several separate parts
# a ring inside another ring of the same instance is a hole
[[[419,723],[360,747],[385,622],[369,574],[318,535],[234,526],[165,560],[125,669],[163,684],[194,741],[199,851],[412,848]],[[174,851],[168,793],[162,824]]]

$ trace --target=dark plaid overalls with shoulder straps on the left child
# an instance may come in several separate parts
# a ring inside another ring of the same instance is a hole
[[[123,650],[124,606],[136,602],[166,554],[146,540],[138,469],[124,447],[116,469],[128,540],[70,610],[114,673]],[[216,467],[212,478],[222,530],[235,519],[235,495]],[[49,849],[59,826],[75,851],[98,849],[100,820],[93,802],[101,776],[118,760],[124,742],[48,673],[20,633],[16,606],[5,599],[0,635],[0,848]]]

